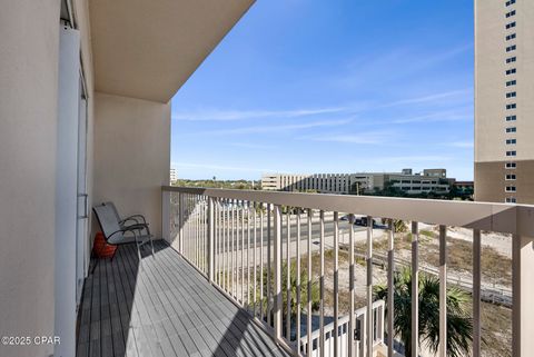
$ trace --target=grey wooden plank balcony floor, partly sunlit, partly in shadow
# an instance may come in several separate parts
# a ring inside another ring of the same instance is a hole
[[[78,357],[287,356],[165,242],[100,260],[85,282]]]

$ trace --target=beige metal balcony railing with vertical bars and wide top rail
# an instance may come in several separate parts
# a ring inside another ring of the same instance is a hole
[[[313,346],[314,301],[312,291],[319,285],[318,353],[325,356],[325,215],[332,214],[334,268],[333,328],[339,330],[339,294],[349,296],[347,329],[356,329],[355,318],[355,229],[354,215],[367,216],[366,227],[366,314],[373,314],[373,217],[412,222],[412,348],[418,340],[419,222],[439,226],[439,340],[446,340],[447,227],[463,227],[473,235],[473,346],[481,356],[481,231],[510,234],[512,249],[512,351],[526,357],[534,350],[534,207],[521,205],[458,202],[445,200],[337,196],[253,190],[162,187],[162,234],[172,247],[215,286],[247,309],[280,346],[301,354],[303,345]],[[339,291],[339,221],[348,214],[349,281]],[[330,216],[328,216],[330,217]],[[317,229],[318,224],[318,229]],[[395,231],[387,230],[387,311],[394,310]],[[318,239],[318,247],[316,240]],[[285,254],[284,254],[285,252]],[[313,255],[319,256],[318,267]],[[299,268],[297,268],[299,267]],[[318,279],[313,271],[318,271]],[[286,272],[285,272],[286,271]],[[360,281],[359,281],[360,282]],[[301,296],[306,288],[307,296]],[[415,292],[414,292],[415,291]],[[287,298],[289,297],[289,298]],[[284,304],[286,299],[286,304]],[[285,308],[286,306],[286,308]],[[289,308],[288,308],[289,307]],[[306,326],[300,326],[306,311]],[[390,316],[390,315],[389,315]],[[344,324],[344,323],[343,323]],[[386,324],[388,356],[393,356],[394,327]],[[301,343],[300,330],[306,331]],[[365,340],[360,356],[373,356],[375,323],[366,319],[362,327]],[[350,333],[347,336],[353,336]],[[356,356],[354,338],[334,334],[333,356]],[[343,346],[342,346],[343,345]],[[330,345],[329,345],[330,346]],[[345,353],[346,351],[346,353]],[[446,344],[439,344],[439,356],[446,356]]]

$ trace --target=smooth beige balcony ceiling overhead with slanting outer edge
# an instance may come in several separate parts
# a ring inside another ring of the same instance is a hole
[[[96,90],[168,102],[254,0],[91,0]]]

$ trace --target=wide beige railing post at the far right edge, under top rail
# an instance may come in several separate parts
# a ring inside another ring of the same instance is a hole
[[[534,350],[534,238],[512,237],[512,356],[532,356]]]

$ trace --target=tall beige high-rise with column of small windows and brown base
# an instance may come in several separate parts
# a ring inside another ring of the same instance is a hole
[[[475,0],[475,199],[534,204],[534,1]]]

